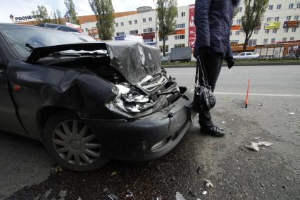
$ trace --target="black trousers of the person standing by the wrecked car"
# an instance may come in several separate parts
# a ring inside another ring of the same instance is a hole
[[[206,70],[208,85],[211,86],[211,89],[213,91],[215,90],[215,84],[217,83],[218,77],[220,75],[222,62],[222,54],[211,52],[206,56],[201,56],[201,65],[204,66]],[[211,120],[211,113],[199,113],[199,124],[201,127],[213,125],[213,120]]]

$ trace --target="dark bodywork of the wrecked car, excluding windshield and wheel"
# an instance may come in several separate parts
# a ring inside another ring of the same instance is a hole
[[[24,59],[1,35],[0,44],[1,130],[41,139],[50,115],[73,111],[103,140],[108,156],[146,160],[170,151],[191,123],[192,94],[166,77],[160,52],[152,46],[61,44],[37,47]],[[106,53],[94,52],[99,50]],[[53,54],[61,51],[93,52]],[[145,87],[148,84],[154,89]],[[130,99],[132,94],[137,98]],[[127,102],[117,104],[120,101]],[[163,146],[153,149],[162,140]]]

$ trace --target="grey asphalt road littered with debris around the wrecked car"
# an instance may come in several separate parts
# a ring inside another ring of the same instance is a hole
[[[192,89],[194,68],[168,73]],[[226,137],[202,135],[195,118],[170,154],[143,163],[111,161],[93,173],[51,173],[54,161],[42,144],[0,132],[0,199],[175,199],[176,192],[186,199],[299,199],[300,66],[223,68],[215,94],[213,120]],[[244,145],[254,137],[274,145],[250,151]],[[206,179],[213,188],[205,188]]]

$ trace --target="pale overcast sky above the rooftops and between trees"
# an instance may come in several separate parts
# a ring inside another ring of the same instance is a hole
[[[75,9],[79,15],[92,15],[89,7],[89,0],[73,0]],[[177,0],[178,6],[194,4],[195,0]],[[58,8],[62,15],[66,8],[63,0],[0,0],[0,23],[11,23],[9,15],[15,17],[30,15],[31,11],[36,10],[37,6],[46,6],[48,12]],[[115,12],[135,11],[139,6],[154,7],[154,0],[113,0]]]

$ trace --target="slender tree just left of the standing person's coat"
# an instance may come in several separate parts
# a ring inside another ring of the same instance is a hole
[[[159,37],[163,40],[163,56],[165,56],[165,41],[175,30],[177,16],[176,0],[157,0],[157,18]]]

